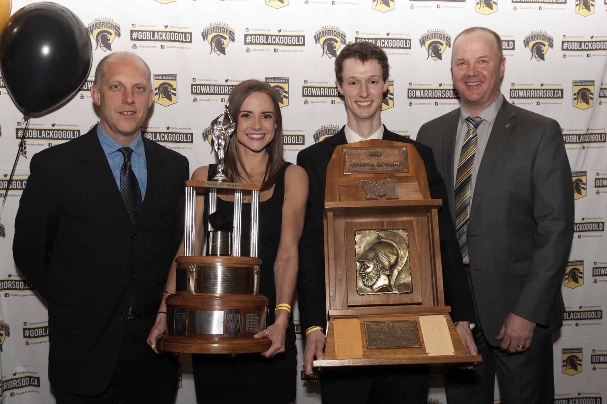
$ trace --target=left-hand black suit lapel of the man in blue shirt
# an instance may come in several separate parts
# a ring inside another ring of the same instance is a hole
[[[116,214],[122,218],[129,226],[131,219],[124,206],[124,201],[120,195],[120,190],[107,162],[107,157],[101,148],[99,138],[97,137],[97,126],[93,127],[86,135],[83,135],[83,147],[80,153],[80,160],[84,161],[83,172],[107,203],[112,206]],[[77,190],[76,190],[77,192]]]

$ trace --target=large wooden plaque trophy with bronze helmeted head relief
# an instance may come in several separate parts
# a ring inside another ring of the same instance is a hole
[[[412,144],[337,146],[327,167],[327,345],[315,367],[480,362],[445,306],[438,208]]]

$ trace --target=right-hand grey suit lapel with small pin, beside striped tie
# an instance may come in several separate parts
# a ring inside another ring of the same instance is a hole
[[[489,141],[487,141],[487,147],[483,153],[483,159],[478,167],[478,174],[476,175],[476,183],[474,184],[474,194],[472,195],[472,206],[470,207],[470,219],[469,223],[472,222],[476,207],[478,207],[479,201],[483,196],[483,191],[487,186],[487,181],[500,156],[501,149],[503,149],[506,140],[512,132],[512,128],[516,125],[516,110],[510,105],[504,98],[501,104],[500,111],[495,117],[495,123],[493,123],[493,129],[489,135]],[[506,124],[509,124],[506,127]]]

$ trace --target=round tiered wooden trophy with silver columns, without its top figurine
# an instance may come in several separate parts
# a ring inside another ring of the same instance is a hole
[[[185,192],[185,256],[176,260],[176,292],[166,298],[168,334],[158,337],[159,348],[192,354],[267,351],[269,338],[253,338],[266,329],[268,316],[268,298],[259,294],[259,187],[189,180]],[[214,229],[209,220],[209,255],[194,255],[197,192],[208,198],[209,216],[216,211],[218,192],[234,194],[232,230]],[[250,257],[240,257],[243,192],[251,195]]]

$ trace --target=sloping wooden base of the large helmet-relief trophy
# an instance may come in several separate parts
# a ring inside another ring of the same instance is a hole
[[[330,317],[324,359],[314,360],[313,366],[325,368],[481,362],[481,355],[467,353],[447,311]],[[423,319],[424,327],[420,317],[427,317]]]

